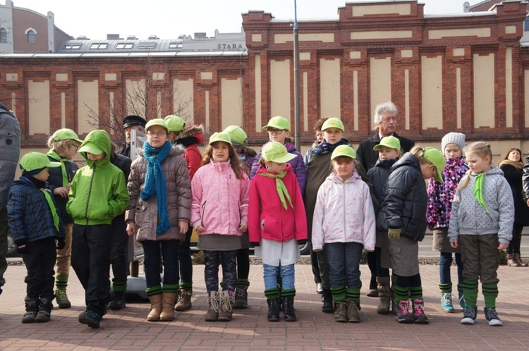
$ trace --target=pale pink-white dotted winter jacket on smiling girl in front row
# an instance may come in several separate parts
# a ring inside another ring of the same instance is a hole
[[[312,250],[331,242],[359,242],[375,250],[375,211],[369,186],[358,173],[345,182],[333,173],[318,190],[312,217]]]

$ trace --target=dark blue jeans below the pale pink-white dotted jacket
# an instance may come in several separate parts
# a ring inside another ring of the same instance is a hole
[[[332,242],[323,250],[329,264],[331,288],[345,285],[348,289],[362,288],[360,258],[364,245],[358,242]]]

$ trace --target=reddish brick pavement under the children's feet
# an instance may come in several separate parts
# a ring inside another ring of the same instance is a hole
[[[454,267],[455,268],[455,267]],[[366,281],[367,266],[361,266]],[[421,266],[429,325],[398,324],[377,314],[377,298],[361,297],[360,324],[339,324],[321,312],[308,265],[296,266],[298,321],[270,323],[263,295],[262,266],[250,267],[250,308],[231,322],[206,322],[203,266],[195,266],[193,309],[171,322],[147,322],[149,304],[131,296],[126,309],[109,312],[99,329],[79,324],[84,292],[75,274],[68,286],[71,309],[54,309],[45,324],[21,324],[24,266],[9,266],[0,295],[0,350],[528,350],[529,269],[501,266],[497,309],[503,327],[488,326],[480,314],[474,326],[459,324],[461,312],[440,310],[439,266]],[[455,269],[452,271],[455,276]],[[363,288],[363,294],[367,289]],[[282,316],[282,314],[281,314]]]

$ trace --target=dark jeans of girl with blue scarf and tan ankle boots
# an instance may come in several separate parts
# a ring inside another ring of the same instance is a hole
[[[164,266],[164,285],[178,285],[178,243],[179,240],[142,241],[147,288],[161,285],[160,261]]]

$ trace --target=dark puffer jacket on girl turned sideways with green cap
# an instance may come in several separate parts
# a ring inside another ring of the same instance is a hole
[[[422,241],[426,232],[428,193],[419,159],[409,152],[391,167],[384,187],[384,202],[377,216],[377,227],[401,228],[401,235]]]

